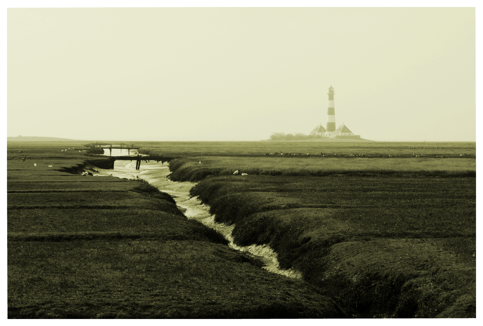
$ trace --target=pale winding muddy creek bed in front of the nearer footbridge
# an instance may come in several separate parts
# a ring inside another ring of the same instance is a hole
[[[233,244],[231,238],[231,231],[234,226],[227,226],[224,223],[215,223],[214,216],[211,216],[208,212],[209,207],[201,204],[197,198],[189,198],[189,190],[195,185],[191,182],[175,182],[167,179],[170,174],[168,164],[164,165],[157,162],[141,163],[140,170],[136,170],[136,161],[116,161],[114,163],[114,170],[99,169],[99,173],[94,173],[94,176],[109,176],[124,177],[124,178],[136,178],[140,177],[150,184],[155,186],[161,191],[169,193],[181,211],[188,218],[194,218],[201,223],[209,226],[210,228],[218,230],[227,238],[230,243],[229,246],[240,250],[249,252],[257,258],[263,260],[265,263],[265,269],[270,272],[276,272],[285,276],[299,278],[300,274],[293,270],[279,270],[277,268],[277,254],[271,250],[268,245],[250,245],[250,246],[237,246]]]

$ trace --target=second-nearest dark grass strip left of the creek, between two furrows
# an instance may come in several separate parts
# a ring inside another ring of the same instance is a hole
[[[59,241],[92,238],[157,238],[227,244],[204,224],[148,209],[19,209],[9,211],[9,240]]]

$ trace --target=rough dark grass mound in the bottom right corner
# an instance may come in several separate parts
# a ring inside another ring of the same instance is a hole
[[[296,264],[305,266],[309,283],[360,317],[474,318],[475,267],[441,254],[437,242],[327,243]]]

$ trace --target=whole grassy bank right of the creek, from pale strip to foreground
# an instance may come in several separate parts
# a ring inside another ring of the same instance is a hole
[[[380,177],[303,177],[324,171],[321,158],[263,159],[280,173],[263,175],[253,158],[185,158],[171,161],[171,176],[205,177],[191,194],[216,221],[235,223],[236,244],[270,244],[281,268],[296,268],[354,316],[475,317],[476,179],[458,177],[475,175],[473,160],[390,166],[398,177],[378,173],[384,165],[372,165]],[[350,162],[327,161],[339,171]],[[205,164],[225,176],[206,177]]]

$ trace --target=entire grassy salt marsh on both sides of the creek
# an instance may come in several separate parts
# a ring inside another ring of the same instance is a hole
[[[141,145],[183,155],[170,178],[303,281],[143,182],[76,174],[78,143],[9,143],[9,318],[476,316],[476,143]]]

